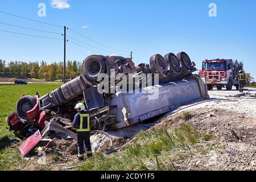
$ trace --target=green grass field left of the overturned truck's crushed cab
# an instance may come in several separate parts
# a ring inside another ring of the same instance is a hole
[[[11,144],[14,134],[9,132],[5,118],[15,111],[16,102],[22,94],[34,96],[38,91],[40,96],[51,92],[61,84],[28,84],[0,86],[0,170],[9,170],[26,164],[20,158],[18,144]]]

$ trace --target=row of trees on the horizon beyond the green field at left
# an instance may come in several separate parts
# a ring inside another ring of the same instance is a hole
[[[68,60],[66,64],[66,78],[73,79],[81,74],[80,61]],[[23,62],[0,59],[0,76],[2,77],[23,77],[23,78],[43,78],[46,81],[63,80],[63,62],[47,64],[46,61]]]

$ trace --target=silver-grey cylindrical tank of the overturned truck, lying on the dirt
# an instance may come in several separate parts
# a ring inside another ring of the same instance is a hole
[[[202,78],[193,75],[185,80],[167,82],[142,89],[138,93],[112,94],[109,105],[117,105],[116,123],[110,130],[118,130],[168,113],[182,105],[209,98]]]

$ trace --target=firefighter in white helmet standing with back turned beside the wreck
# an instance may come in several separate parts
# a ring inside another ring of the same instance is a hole
[[[92,157],[92,147],[90,145],[90,116],[82,103],[77,104],[75,109],[77,110],[77,114],[73,121],[73,130],[75,130],[77,134],[77,157],[79,160],[84,160],[84,145],[86,147],[87,158]]]

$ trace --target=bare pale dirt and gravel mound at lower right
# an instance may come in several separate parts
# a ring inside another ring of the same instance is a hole
[[[255,170],[256,169],[256,120],[245,113],[224,109],[193,109],[177,113],[158,126],[170,129],[189,123],[208,138],[191,149],[187,158],[176,162],[180,170]],[[232,148],[233,155],[226,151]]]

